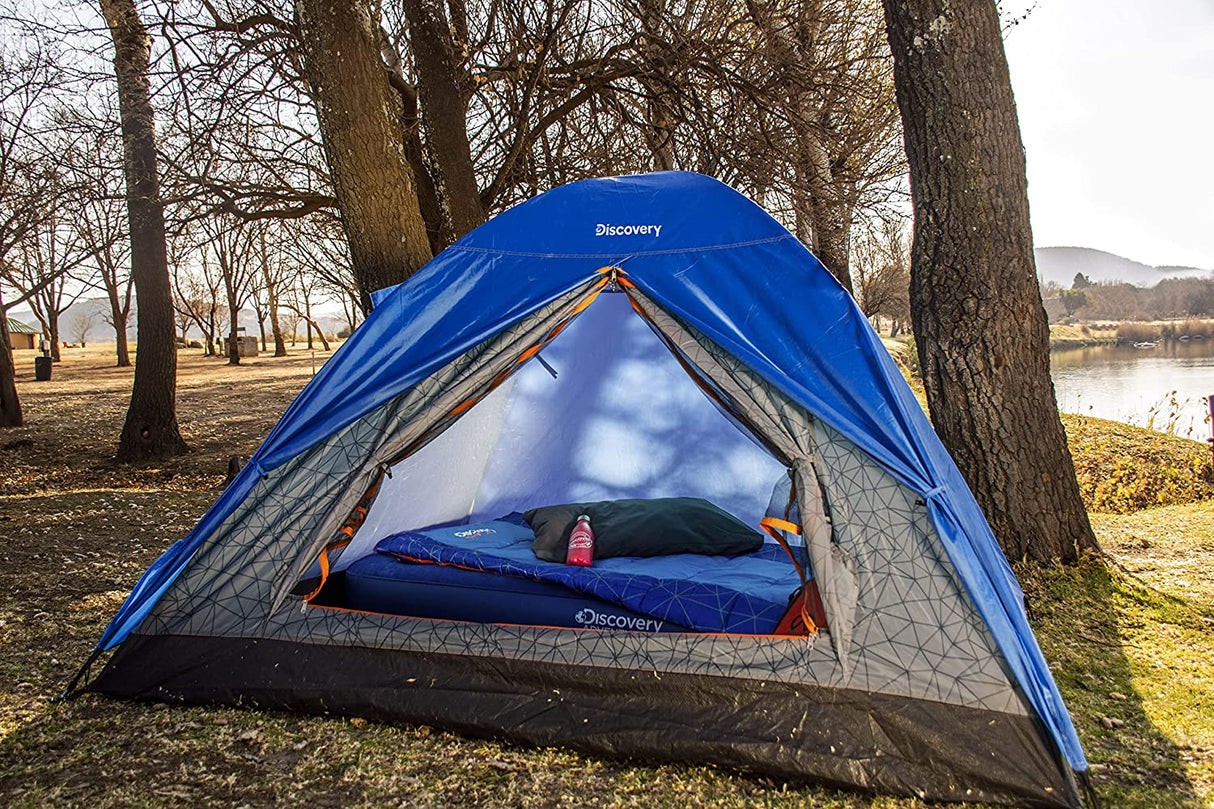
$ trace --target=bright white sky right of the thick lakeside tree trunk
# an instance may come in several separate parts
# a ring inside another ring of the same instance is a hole
[[[1039,0],[1006,51],[1037,245],[1214,270],[1214,1]]]

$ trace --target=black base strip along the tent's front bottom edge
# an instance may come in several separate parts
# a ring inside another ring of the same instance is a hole
[[[280,640],[132,635],[89,690],[419,723],[929,800],[1080,804],[1028,717],[845,689]]]

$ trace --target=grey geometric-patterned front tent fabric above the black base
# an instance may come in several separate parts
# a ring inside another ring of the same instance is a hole
[[[744,383],[759,400],[744,409],[766,414],[762,437],[812,468],[826,494],[832,553],[856,587],[849,601],[853,615],[847,616],[846,666],[826,640],[829,633],[822,639],[602,633],[301,607],[288,598],[380,468],[419,440],[432,440],[454,420],[452,409],[487,392],[490,380],[514,367],[520,346],[543,340],[586,296],[583,288],[554,301],[261,480],[198,550],[140,633],[773,679],[1028,713],[923,504],[855,445],[741,363],[728,369],[731,387]],[[707,340],[696,343],[704,351],[687,343],[680,351],[696,353],[688,358],[708,373],[714,355],[720,356]],[[710,375],[714,383],[726,381]]]

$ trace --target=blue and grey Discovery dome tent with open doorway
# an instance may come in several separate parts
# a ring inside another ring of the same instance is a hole
[[[851,296],[761,208],[686,172],[575,182],[373,298],[136,584],[81,690],[1083,805],[1083,749],[972,494]],[[751,609],[745,565],[788,560],[770,542],[569,573],[507,555],[524,522],[486,522],[675,496],[750,525],[787,496],[767,525],[802,577],[778,601],[809,579],[819,630]],[[444,530],[465,545],[399,549]],[[375,579],[405,606],[356,601],[371,564],[414,577]],[[540,609],[561,593],[577,621]]]

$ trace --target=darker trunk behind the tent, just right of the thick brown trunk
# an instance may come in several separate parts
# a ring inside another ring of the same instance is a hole
[[[455,238],[484,224],[467,142],[467,109],[459,81],[459,57],[447,12],[436,0],[404,0],[426,142]]]

